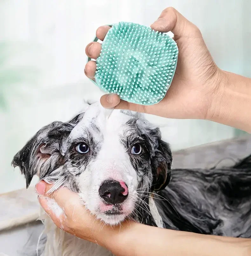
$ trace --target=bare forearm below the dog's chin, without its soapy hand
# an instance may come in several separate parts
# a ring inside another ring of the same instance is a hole
[[[250,239],[200,235],[134,222],[125,222],[101,240],[117,256],[246,256],[251,253]]]

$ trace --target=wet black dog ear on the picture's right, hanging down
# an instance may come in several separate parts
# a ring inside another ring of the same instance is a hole
[[[162,190],[171,180],[172,152],[168,143],[158,140],[158,148],[153,157],[152,190]]]

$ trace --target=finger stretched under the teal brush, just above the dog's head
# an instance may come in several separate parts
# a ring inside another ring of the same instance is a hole
[[[147,113],[147,106],[120,100],[117,94],[106,94],[100,98],[100,103],[105,108],[129,109],[141,113]]]

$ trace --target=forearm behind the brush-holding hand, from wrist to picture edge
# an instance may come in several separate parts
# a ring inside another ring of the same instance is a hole
[[[251,79],[222,71],[208,120],[251,133]]]

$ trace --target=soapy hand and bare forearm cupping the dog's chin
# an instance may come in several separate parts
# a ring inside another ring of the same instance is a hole
[[[78,194],[61,188],[47,194],[51,184],[40,181],[36,185],[39,202],[52,221],[74,236],[97,243],[117,256],[175,255],[175,256],[250,256],[251,241],[201,235],[147,226],[125,220],[121,225],[108,226],[96,219],[83,206]],[[53,198],[64,209],[60,216],[47,204]]]

